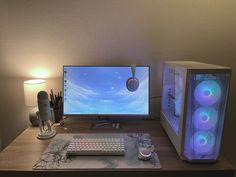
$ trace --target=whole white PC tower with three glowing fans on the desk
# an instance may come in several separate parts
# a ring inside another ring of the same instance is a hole
[[[161,125],[182,160],[216,161],[231,68],[193,61],[165,62]]]

